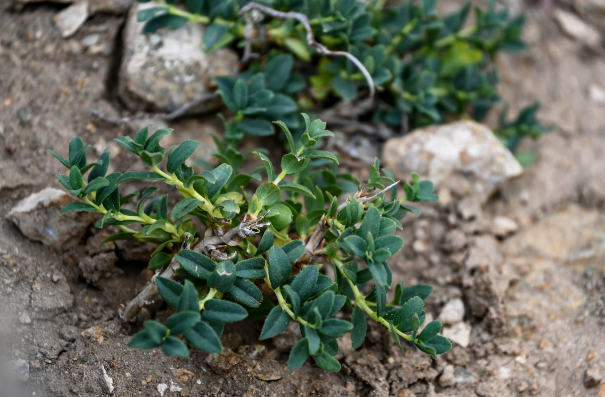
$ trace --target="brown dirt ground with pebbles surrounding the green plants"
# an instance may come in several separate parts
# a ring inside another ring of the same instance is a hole
[[[86,113],[128,114],[116,96],[123,15],[93,16],[62,39],[52,18],[64,5],[10,4],[0,2],[4,214],[30,193],[59,187],[50,173],[60,164],[45,152],[67,152],[73,135],[99,153],[111,150],[116,169],[131,169],[134,158],[112,140],[136,127]],[[433,318],[462,300],[457,331],[470,328],[468,346],[454,344],[433,360],[400,350],[384,328],[371,326],[361,349],[342,341],[340,372],[311,362],[289,372],[296,328],[260,344],[262,321],[252,321],[226,328],[222,341],[231,350],[222,366],[202,352],[173,358],[129,349],[140,323],[123,323],[116,309],[150,276],[145,263],[126,260],[131,248],[98,248],[104,232],[91,228],[75,248],[53,250],[2,216],[0,396],[106,395],[103,370],[116,396],[605,396],[605,100],[592,86],[605,88],[605,55],[563,34],[552,2],[523,7],[530,48],[499,58],[502,92],[512,108],[540,100],[554,131],[523,144],[537,162],[483,208],[444,197],[424,205],[422,217],[406,218],[407,244],[391,262],[394,280],[436,287],[427,301]],[[105,48],[82,44],[93,33]],[[203,131],[215,125],[175,121],[172,139],[209,142]],[[211,150],[204,147],[201,157]],[[517,228],[502,236],[497,216]],[[87,276],[91,258],[108,257],[117,262],[102,278]],[[162,306],[156,315],[169,314]],[[6,375],[15,369],[21,381]]]

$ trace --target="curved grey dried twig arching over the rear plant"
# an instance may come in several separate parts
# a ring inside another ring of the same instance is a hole
[[[273,18],[296,19],[296,21],[300,22],[302,24],[302,26],[304,26],[305,30],[307,31],[307,44],[309,44],[310,47],[315,48],[315,50],[320,54],[324,54],[324,55],[328,55],[328,56],[346,57],[348,60],[353,62],[353,64],[355,64],[355,66],[357,66],[359,68],[361,73],[364,75],[365,80],[367,80],[367,82],[368,82],[368,87],[370,88],[370,100],[374,98],[374,93],[376,92],[376,88],[374,88],[374,80],[372,80],[370,72],[368,72],[368,69],[365,68],[364,64],[361,63],[361,61],[359,59],[357,59],[355,56],[353,56],[353,54],[347,53],[347,51],[332,51],[332,50],[329,50],[329,48],[325,47],[325,45],[317,42],[315,40],[315,37],[313,37],[313,30],[311,29],[311,24],[309,22],[309,18],[307,18],[306,15],[304,15],[302,13],[297,13],[294,11],[284,12],[284,11],[274,10],[273,8],[267,7],[266,5],[263,5],[263,4],[258,4],[257,2],[248,3],[248,4],[244,5],[244,7],[241,7],[240,15],[242,15],[242,16],[244,16],[244,18],[246,18],[245,15],[249,11],[253,11],[253,10],[261,11],[262,13],[272,16]],[[246,19],[246,24],[248,24],[248,21],[250,21],[250,18]],[[249,39],[246,39],[246,40],[249,40]]]

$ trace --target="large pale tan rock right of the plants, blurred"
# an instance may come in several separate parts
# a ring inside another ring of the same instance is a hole
[[[397,179],[409,179],[411,172],[417,172],[437,189],[445,187],[453,196],[473,196],[479,203],[523,172],[491,130],[474,121],[430,126],[391,138],[382,158]]]

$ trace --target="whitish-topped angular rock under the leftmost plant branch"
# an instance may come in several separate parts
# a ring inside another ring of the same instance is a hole
[[[60,215],[61,208],[73,201],[62,190],[47,187],[19,201],[7,218],[30,240],[40,241],[48,247],[71,248],[78,244],[97,218],[91,212]]]

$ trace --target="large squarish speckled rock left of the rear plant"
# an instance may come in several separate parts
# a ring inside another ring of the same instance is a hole
[[[154,6],[135,4],[129,11],[118,90],[132,109],[152,107],[171,112],[190,100],[214,92],[212,77],[231,74],[238,56],[228,48],[211,54],[201,50],[204,28],[200,24],[143,33],[144,24],[137,21],[137,13]],[[192,113],[209,111],[218,103],[203,103]]]

